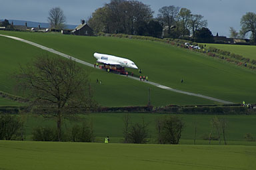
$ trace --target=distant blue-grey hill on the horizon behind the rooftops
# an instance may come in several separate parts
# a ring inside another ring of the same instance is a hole
[[[0,21],[4,21],[4,19],[0,19]],[[40,25],[41,28],[49,28],[50,25],[49,23],[39,23],[39,22],[33,22],[33,21],[21,21],[21,20],[8,20],[9,23],[13,22],[13,25],[25,25],[27,22],[27,27],[38,27]],[[77,25],[66,25],[66,29],[75,29]]]

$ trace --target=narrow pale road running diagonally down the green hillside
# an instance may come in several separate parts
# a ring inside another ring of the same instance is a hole
[[[18,37],[13,37],[13,36],[8,36],[8,35],[0,35],[0,36],[2,36],[2,37],[7,37],[7,38],[10,38],[10,39],[15,39],[15,40],[17,40],[17,41],[22,41],[22,42],[25,42],[25,43],[27,43],[27,44],[31,44],[31,45],[33,45],[33,46],[37,46],[38,48],[41,48],[41,49],[43,49],[43,50],[47,50],[47,51],[52,52],[52,53],[54,53],[54,54],[58,54],[59,56],[63,56],[63,57],[65,57],[65,58],[71,58],[72,60],[75,60],[76,62],[79,62],[79,63],[81,63],[81,64],[85,64],[86,66],[91,66],[91,67],[94,68],[94,64],[90,64],[89,62],[85,62],[85,61],[83,61],[83,60],[79,60],[79,59],[77,59],[77,58],[75,58],[75,57],[73,57],[73,56],[69,56],[69,55],[64,54],[64,53],[62,53],[62,52],[58,52],[57,50],[53,50],[52,48],[48,48],[48,47],[46,47],[46,46],[42,46],[42,45],[37,44],[37,43],[35,43],[35,42],[27,41],[27,40],[24,40],[24,39],[20,39],[20,38],[18,38]],[[125,75],[121,75],[121,74],[117,74],[117,75],[125,76]],[[134,80],[139,80],[139,78],[136,78],[136,77],[132,77],[132,76],[128,76],[128,77],[129,77],[129,78],[132,78],[132,79],[134,79]],[[184,92],[184,91],[181,91],[181,90],[177,90],[177,89],[173,89],[173,88],[170,88],[170,87],[167,87],[167,86],[163,86],[163,85],[161,85],[161,84],[157,84],[157,83],[155,83],[155,82],[150,82],[150,81],[148,81],[148,82],[145,82],[145,83],[151,84],[151,85],[153,85],[153,86],[157,86],[158,88],[163,88],[163,89],[165,89],[165,90],[170,90],[170,91],[172,91],[172,92],[177,92],[177,93],[181,93],[181,94],[187,94],[187,95],[189,95],[189,96],[197,96],[197,97],[199,97],[199,98],[205,98],[205,99],[207,99],[207,100],[213,100],[213,101],[215,101],[215,102],[219,102],[219,103],[222,103],[222,104],[233,104],[233,102],[229,102],[229,101],[225,101],[225,100],[220,100],[220,99],[217,99],[217,98],[212,98],[212,97],[204,96],[204,95],[201,95],[201,94],[194,94],[194,93],[191,93],[191,92]]]

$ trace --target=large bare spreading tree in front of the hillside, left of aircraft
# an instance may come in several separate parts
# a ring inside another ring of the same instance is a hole
[[[88,75],[71,59],[41,56],[16,76],[20,90],[33,101],[34,112],[56,118],[59,141],[62,119],[92,107]]]

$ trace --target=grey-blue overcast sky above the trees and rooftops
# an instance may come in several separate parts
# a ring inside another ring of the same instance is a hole
[[[213,35],[229,37],[229,27],[240,29],[240,19],[245,13],[256,13],[256,0],[140,0],[150,5],[157,16],[163,6],[185,7],[208,21]],[[0,19],[36,21],[47,23],[49,9],[61,7],[67,24],[79,25],[99,7],[110,0],[0,0]]]

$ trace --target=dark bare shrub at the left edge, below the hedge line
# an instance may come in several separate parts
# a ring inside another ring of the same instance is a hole
[[[19,121],[17,116],[0,116],[0,140],[15,140],[21,137],[21,128],[23,122]]]

